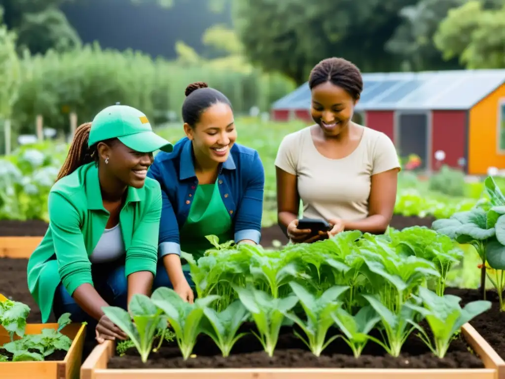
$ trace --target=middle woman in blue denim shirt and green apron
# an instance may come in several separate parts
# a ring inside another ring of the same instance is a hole
[[[237,131],[230,101],[206,83],[188,85],[182,106],[183,137],[171,153],[160,152],[148,176],[160,182],[159,270],[155,287],[172,287],[193,301],[189,267],[181,251],[197,260],[212,245],[259,244],[265,172],[258,152],[235,143]]]

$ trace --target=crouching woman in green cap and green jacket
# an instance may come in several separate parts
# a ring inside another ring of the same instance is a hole
[[[151,291],[162,198],[146,174],[154,151],[172,149],[143,113],[123,105],[76,130],[49,193],[49,227],[27,267],[42,322],[69,312],[94,326],[100,343],[125,338],[102,307],[127,309],[133,294]]]

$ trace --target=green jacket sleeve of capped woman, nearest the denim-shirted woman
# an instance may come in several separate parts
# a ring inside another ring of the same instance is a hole
[[[158,185],[149,201],[150,204],[137,229],[133,232],[131,245],[126,251],[125,274],[127,276],[138,271],[149,271],[156,275],[162,208],[161,191]]]

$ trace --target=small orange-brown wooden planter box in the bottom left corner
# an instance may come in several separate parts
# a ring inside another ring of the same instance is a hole
[[[57,323],[27,324],[26,335],[40,334],[44,328],[57,330]],[[82,363],[82,349],[84,346],[86,325],[71,323],[65,326],[61,333],[72,340],[72,345],[65,358],[58,361],[26,361],[26,362],[0,362],[0,377],[2,379],[21,379],[33,377],[36,379],[77,379]],[[19,340],[18,336],[14,337]],[[0,346],[10,341],[6,329],[0,326]]]

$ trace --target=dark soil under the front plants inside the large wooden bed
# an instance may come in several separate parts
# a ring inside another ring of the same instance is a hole
[[[424,325],[423,325],[424,326]],[[254,324],[244,324],[242,331],[256,329]],[[296,326],[298,333],[300,332]],[[330,330],[328,337],[334,334]],[[373,333],[379,338],[378,333]],[[186,361],[181,357],[176,342],[167,343],[159,352],[151,353],[147,363],[142,363],[135,348],[128,349],[123,357],[114,356],[108,368],[245,368],[245,367],[334,367],[334,368],[482,368],[482,361],[469,350],[462,336],[453,341],[443,359],[435,357],[424,343],[411,335],[398,358],[389,356],[382,347],[369,342],[361,357],[355,358],[350,348],[341,340],[333,341],[318,358],[293,335],[292,327],[283,327],[275,353],[269,357],[258,339],[249,334],[234,345],[231,354],[223,358],[221,351],[207,336],[200,335],[193,349],[195,358]]]

